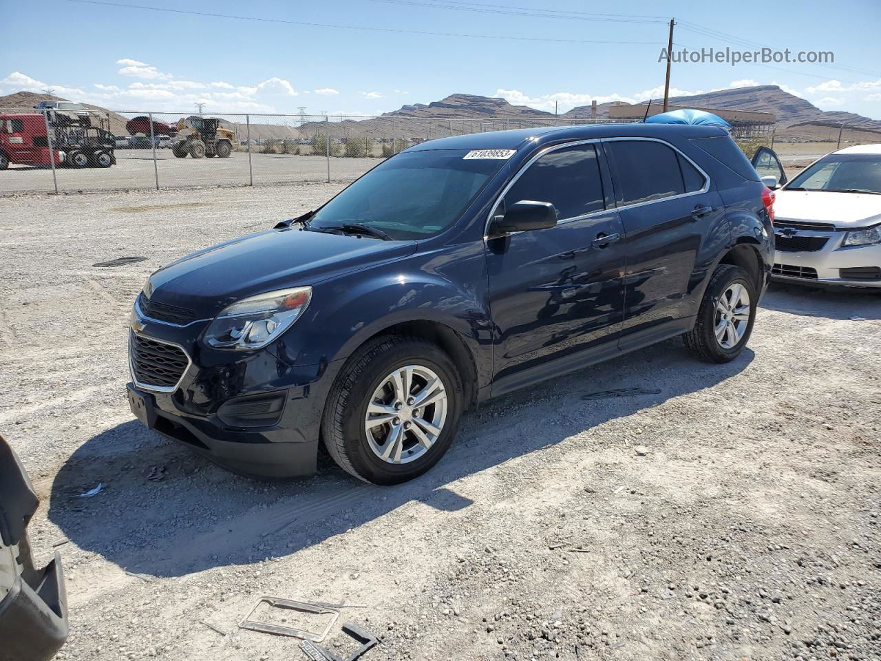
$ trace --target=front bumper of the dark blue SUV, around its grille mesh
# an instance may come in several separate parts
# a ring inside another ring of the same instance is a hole
[[[201,328],[147,318],[133,324],[132,334],[174,345],[187,360],[179,381],[152,387],[137,378],[132,335],[132,412],[147,428],[233,472],[312,475],[324,403],[342,361],[291,366],[271,346],[247,353],[211,350],[197,341]]]

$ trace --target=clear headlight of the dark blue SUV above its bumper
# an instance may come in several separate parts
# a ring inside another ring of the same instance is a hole
[[[287,331],[312,299],[312,287],[260,293],[224,309],[205,331],[215,349],[260,349]]]

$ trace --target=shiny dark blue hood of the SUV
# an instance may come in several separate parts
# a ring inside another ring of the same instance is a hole
[[[189,308],[202,318],[256,293],[315,285],[323,279],[400,259],[416,241],[273,229],[200,250],[150,277],[151,301]]]

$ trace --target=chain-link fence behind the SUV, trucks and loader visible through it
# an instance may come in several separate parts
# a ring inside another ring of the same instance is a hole
[[[0,168],[4,169],[0,195],[348,182],[380,160],[438,137],[609,122],[540,117],[426,118],[400,113],[193,115],[95,112],[78,106],[72,110],[0,109]],[[809,141],[811,137],[834,147],[839,133],[842,146],[881,141],[877,131],[841,129],[839,125],[785,130],[768,125],[749,133],[743,138],[762,144],[776,140],[775,146],[780,147],[784,142]],[[741,138],[734,130],[732,134]]]

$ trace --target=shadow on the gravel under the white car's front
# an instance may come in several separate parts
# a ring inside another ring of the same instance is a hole
[[[829,319],[881,319],[881,289],[820,288],[773,282],[760,308]]]

